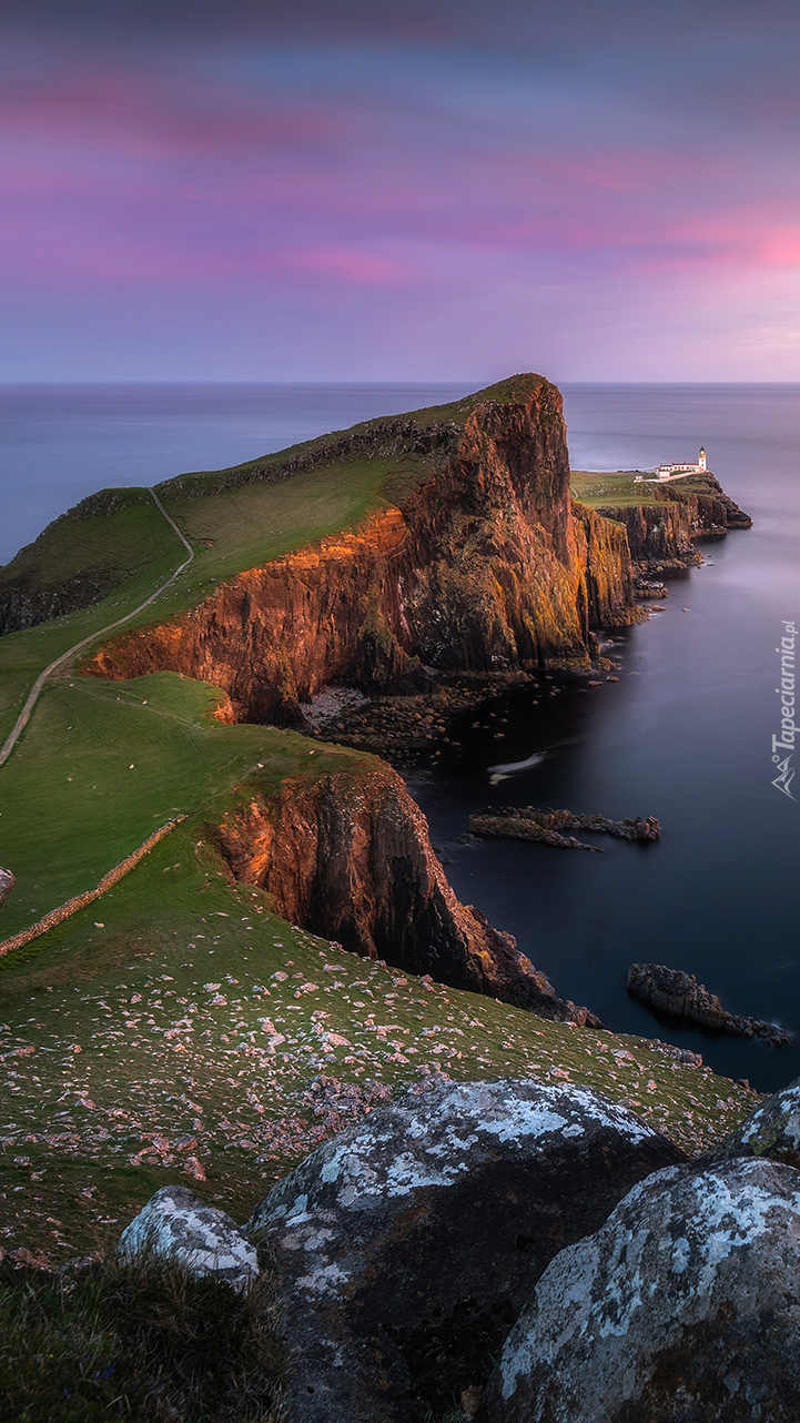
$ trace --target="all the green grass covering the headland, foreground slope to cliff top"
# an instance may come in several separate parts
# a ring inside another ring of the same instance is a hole
[[[215,582],[400,499],[437,458],[436,441],[417,448],[420,433],[444,431],[446,448],[447,427],[480,398],[517,394],[505,381],[161,485],[195,561],[132,626],[191,609]],[[44,666],[137,608],[182,561],[147,491],[125,495],[121,507],[84,501],[3,571],[0,585],[28,578],[40,589],[87,569],[124,573],[91,606],[0,640],[3,736]],[[753,1106],[749,1090],[643,1039],[426,985],[279,919],[262,891],[231,881],[212,828],[255,788],[272,794],[288,778],[367,758],[273,727],[221,724],[218,699],[168,672],[128,682],[70,672],[46,687],[0,770],[0,864],[17,878],[3,938],[186,817],[101,901],[0,958],[6,1247],[57,1258],[105,1248],[154,1190],[186,1181],[188,1157],[205,1170],[198,1194],[243,1220],[313,1144],[420,1072],[585,1083],[689,1150]],[[540,966],[551,966],[547,953]]]

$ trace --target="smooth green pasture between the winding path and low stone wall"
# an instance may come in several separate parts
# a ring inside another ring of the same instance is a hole
[[[1,773],[0,864],[17,879],[3,938],[91,889],[171,817],[221,814],[255,763],[268,793],[286,774],[336,763],[336,750],[302,737],[223,726],[212,714],[218,702],[206,683],[167,672],[46,689]]]

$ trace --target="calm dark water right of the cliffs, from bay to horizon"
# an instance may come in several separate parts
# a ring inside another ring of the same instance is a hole
[[[800,616],[800,387],[581,386],[565,408],[577,468],[646,468],[703,443],[754,527],[706,542],[709,565],[669,585],[665,612],[612,633],[618,683],[538,706],[502,699],[504,739],[497,720],[468,719],[463,761],[411,791],[458,896],[517,935],[558,993],[772,1090],[800,1074],[800,804],[770,784],[774,649],[781,619]],[[448,842],[487,804],[658,815],[662,840],[579,837],[602,855]],[[732,1012],[790,1026],[797,1046],[656,1023],[625,990],[636,961],[696,973]]]

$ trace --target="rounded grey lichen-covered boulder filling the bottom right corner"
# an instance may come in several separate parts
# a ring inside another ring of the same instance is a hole
[[[796,1423],[800,1173],[669,1168],[541,1276],[490,1423]]]

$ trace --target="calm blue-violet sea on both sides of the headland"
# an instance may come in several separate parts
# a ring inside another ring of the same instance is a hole
[[[0,387],[0,559],[97,488],[221,468],[478,384]],[[669,582],[646,623],[604,630],[618,682],[495,699],[409,787],[460,899],[514,933],[562,998],[776,1090],[800,1076],[800,774],[781,783],[773,760],[777,649],[800,629],[800,386],[562,391],[574,468],[648,470],[705,445],[753,528],[699,545],[703,565]],[[579,837],[602,854],[463,842],[473,811],[530,804],[656,815],[662,838]],[[695,973],[791,1043],[656,1017],[626,992],[633,962]]]

